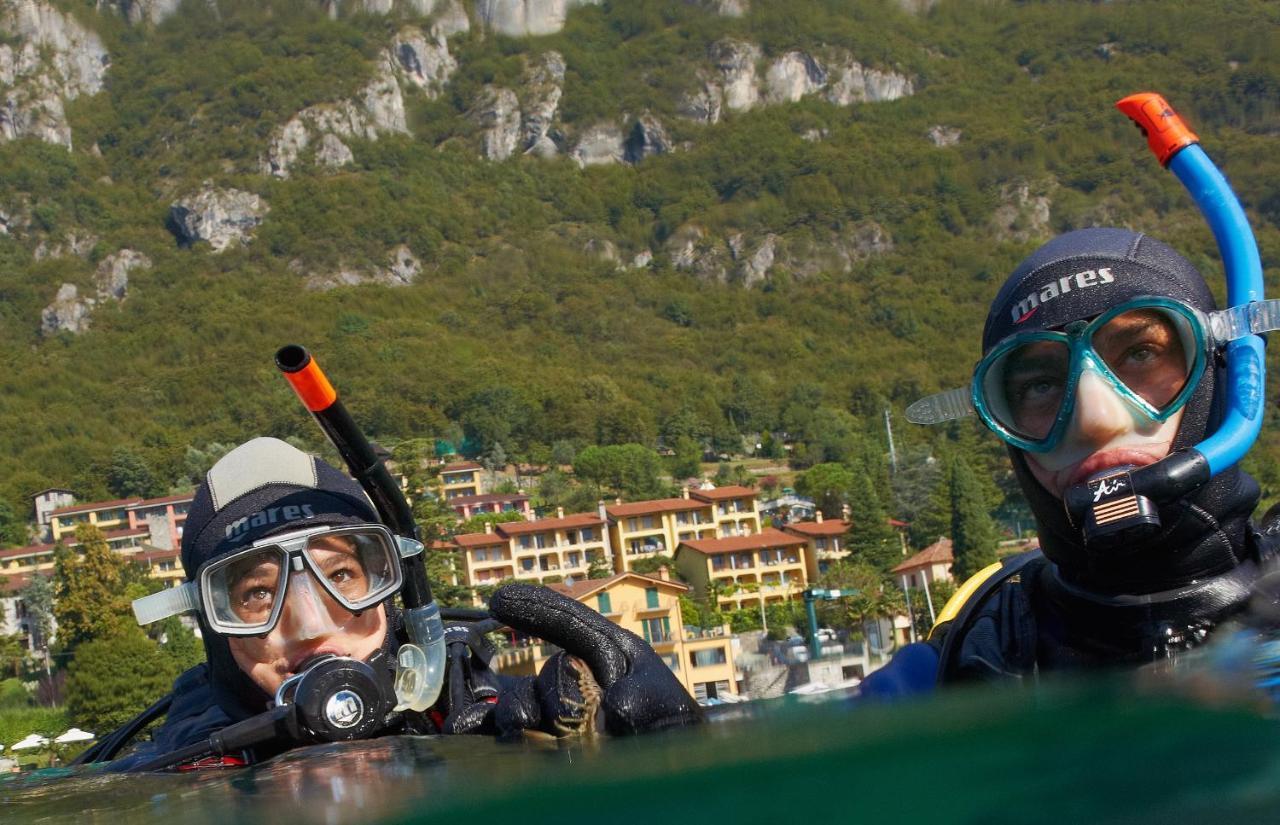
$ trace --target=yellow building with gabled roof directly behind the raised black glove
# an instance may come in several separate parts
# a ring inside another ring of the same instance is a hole
[[[649,642],[694,698],[736,695],[737,673],[728,625],[686,628],[680,615],[680,595],[689,587],[664,574],[666,570],[657,577],[618,573],[550,587]],[[532,675],[559,650],[540,640],[516,637],[515,641],[516,647],[497,659],[502,673]]]

